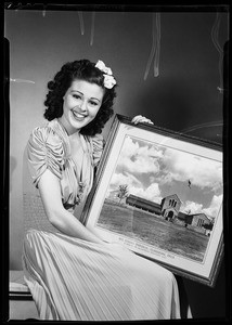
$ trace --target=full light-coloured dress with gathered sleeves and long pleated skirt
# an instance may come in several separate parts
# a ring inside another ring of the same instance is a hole
[[[61,180],[63,205],[74,212],[91,190],[103,150],[101,135],[81,135],[78,168],[57,119],[36,128],[25,151],[23,268],[41,320],[134,321],[180,317],[175,276],[128,249],[59,232],[48,221],[38,182],[48,168]]]

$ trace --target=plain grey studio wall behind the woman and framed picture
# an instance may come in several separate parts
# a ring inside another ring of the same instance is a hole
[[[11,269],[22,269],[23,151],[31,129],[43,122],[47,82],[64,63],[104,61],[119,83],[118,114],[142,114],[159,127],[222,141],[219,49],[229,39],[228,12],[162,12],[159,18],[160,24],[152,12],[5,10],[11,77]],[[159,27],[158,76],[154,77],[150,55]],[[224,315],[223,265],[215,289],[188,280],[184,287],[196,317]]]

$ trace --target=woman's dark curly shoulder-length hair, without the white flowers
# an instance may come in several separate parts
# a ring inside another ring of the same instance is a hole
[[[95,63],[89,60],[79,60],[64,64],[54,76],[54,79],[48,82],[49,92],[44,101],[44,105],[48,108],[46,108],[43,116],[46,119],[52,120],[63,115],[63,96],[75,79],[96,83],[104,89],[102,105],[95,118],[80,130],[80,133],[85,135],[101,133],[106,121],[114,114],[113,104],[116,98],[116,86],[112,89],[105,88],[103,73],[95,67]]]

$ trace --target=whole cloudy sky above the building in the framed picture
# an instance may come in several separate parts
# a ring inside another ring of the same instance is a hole
[[[222,204],[222,164],[126,136],[107,195],[125,184],[129,194],[158,204],[177,194],[180,211],[216,218]]]

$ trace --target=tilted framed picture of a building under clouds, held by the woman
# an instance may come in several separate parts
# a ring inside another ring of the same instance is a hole
[[[222,147],[116,115],[81,221],[214,286],[223,253]]]

